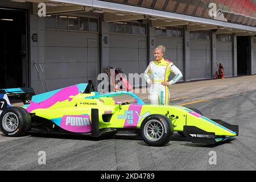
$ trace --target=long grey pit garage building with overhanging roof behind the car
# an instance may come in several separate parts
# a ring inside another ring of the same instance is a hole
[[[46,92],[104,68],[143,73],[156,46],[183,80],[256,74],[253,0],[2,0],[1,88]],[[145,86],[142,84],[134,85]]]

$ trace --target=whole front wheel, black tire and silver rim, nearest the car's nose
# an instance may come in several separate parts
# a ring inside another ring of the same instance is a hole
[[[170,142],[174,135],[174,126],[166,116],[152,114],[143,120],[141,134],[149,146],[160,147]]]

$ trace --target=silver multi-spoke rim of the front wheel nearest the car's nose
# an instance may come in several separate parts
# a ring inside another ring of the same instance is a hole
[[[160,121],[152,119],[146,123],[144,134],[148,140],[155,142],[163,137],[163,129],[163,124]]]

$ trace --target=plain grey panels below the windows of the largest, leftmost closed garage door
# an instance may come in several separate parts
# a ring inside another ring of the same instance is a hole
[[[96,85],[100,73],[98,42],[98,33],[46,30],[45,72],[49,88],[88,80]]]

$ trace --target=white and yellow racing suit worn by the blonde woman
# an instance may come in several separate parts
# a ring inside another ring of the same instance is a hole
[[[171,73],[176,76],[169,81],[168,86],[164,86],[161,83],[168,81],[168,77]],[[151,79],[148,75],[151,75]],[[144,77],[147,84],[153,81],[154,84],[150,87],[150,104],[154,105],[169,105],[170,103],[170,92],[169,86],[175,84],[182,77],[180,70],[169,60],[162,59],[160,63],[158,61],[151,61],[148,65],[146,71],[144,72]]]

